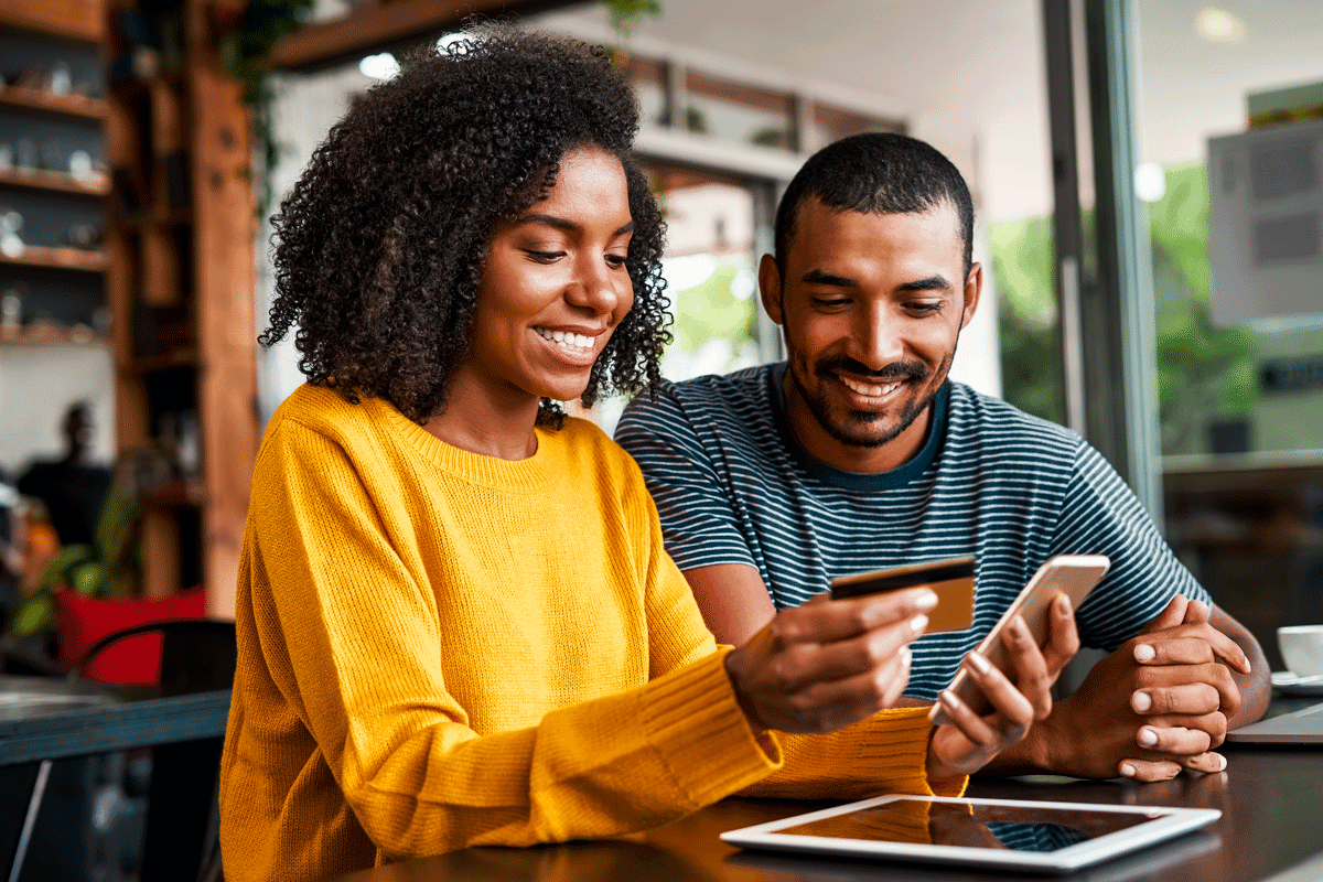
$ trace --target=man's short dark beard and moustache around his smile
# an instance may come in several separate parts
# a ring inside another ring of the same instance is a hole
[[[949,353],[946,360],[938,368],[937,374],[941,380],[946,378],[954,357],[954,352]],[[807,360],[802,354],[792,353],[790,357],[790,377],[794,381],[795,387],[799,389],[799,397],[803,398],[804,403],[808,406],[808,413],[814,415],[814,419],[816,419],[818,424],[823,427],[823,431],[847,447],[878,448],[896,440],[901,432],[909,428],[914,421],[918,419],[925,410],[927,410],[927,406],[933,402],[938,389],[942,386],[941,382],[937,382],[931,391],[929,391],[929,394],[923,398],[916,397],[906,401],[901,406],[896,426],[881,435],[875,435],[867,430],[873,423],[890,417],[889,413],[875,414],[863,410],[848,410],[843,417],[837,417],[832,411],[832,406],[826,391],[815,393],[807,389],[800,381],[800,374],[807,373]],[[886,385],[888,382],[897,380],[905,382],[923,382],[930,374],[927,365],[922,361],[897,361],[886,365],[881,370],[869,370],[853,358],[837,354],[827,356],[814,364],[814,374],[827,382],[836,382],[835,373],[837,370],[844,370],[845,373],[856,376],[861,380],[872,380],[877,385]]]

